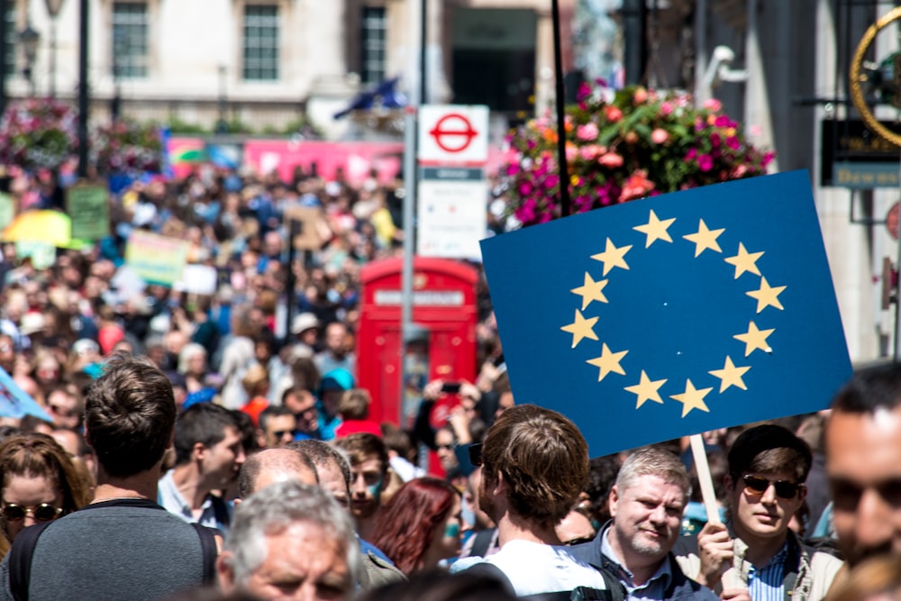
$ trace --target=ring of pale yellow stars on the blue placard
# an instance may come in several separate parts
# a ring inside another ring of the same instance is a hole
[[[653,210],[648,217],[648,223],[636,225],[633,230],[645,234],[644,248],[651,248],[651,244],[656,242],[672,243],[672,237],[669,235],[669,227],[676,223],[676,218],[660,219]],[[725,228],[711,229],[703,219],[697,224],[697,231],[682,236],[685,240],[695,244],[695,258],[700,257],[705,251],[723,254],[717,239],[725,232]],[[616,246],[614,241],[607,238],[603,252],[591,255],[593,260],[604,264],[602,278],[605,278],[613,269],[629,269],[629,264],[625,259],[626,254],[632,250],[632,245]],[[760,287],[749,290],[745,294],[751,296],[757,301],[757,313],[760,314],[768,307],[774,307],[779,311],[784,311],[782,303],[779,302],[779,295],[786,289],[785,286],[771,286],[767,278],[764,278],[757,267],[757,261],[760,260],[764,252],[749,252],[744,244],[740,241],[736,254],[731,257],[725,257],[724,261],[735,268],[734,278],[742,278],[745,274],[760,277]],[[572,347],[575,349],[581,341],[591,340],[600,341],[595,332],[599,317],[586,317],[582,314],[592,303],[607,303],[607,297],[604,294],[604,288],[609,280],[595,280],[590,273],[585,272],[585,278],[582,285],[572,288],[570,292],[581,298],[581,308],[576,309],[575,317],[572,323],[568,323],[560,328],[563,332],[572,335]],[[775,328],[763,329],[753,320],[748,323],[747,332],[739,332],[733,335],[737,341],[744,343],[744,360],[747,360],[754,351],[762,351],[770,353],[772,349],[769,347],[769,336],[776,332]],[[628,350],[612,351],[605,341],[601,341],[601,354],[594,359],[587,360],[587,363],[596,367],[598,371],[597,381],[600,382],[610,374],[618,374],[626,376],[623,369],[623,358],[629,353]],[[740,360],[743,362],[743,360]],[[741,388],[747,390],[748,387],[744,383],[744,375],[751,369],[750,365],[735,365],[731,355],[726,355],[723,367],[721,369],[711,369],[707,373],[720,380],[719,392],[724,393],[730,387]],[[663,404],[663,398],[660,396],[660,388],[669,380],[667,378],[651,379],[648,373],[641,369],[641,375],[636,384],[623,387],[623,390],[636,396],[635,409],[640,409],[642,405],[651,401],[653,403]],[[682,417],[690,414],[694,410],[710,412],[705,398],[708,396],[713,387],[697,388],[691,381],[687,379],[683,392],[677,395],[670,395],[669,398],[682,404]]]

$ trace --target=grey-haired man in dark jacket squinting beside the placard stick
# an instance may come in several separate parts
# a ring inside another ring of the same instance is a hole
[[[656,447],[633,452],[610,489],[611,521],[573,554],[615,574],[630,599],[716,601],[686,578],[672,551],[688,502],[688,474],[678,457]]]

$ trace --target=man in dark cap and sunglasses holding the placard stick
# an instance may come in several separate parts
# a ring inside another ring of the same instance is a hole
[[[724,477],[728,524],[705,524],[697,555],[680,558],[686,573],[724,600],[822,599],[842,561],[788,528],[804,504],[811,461],[807,443],[781,426],[743,432]]]

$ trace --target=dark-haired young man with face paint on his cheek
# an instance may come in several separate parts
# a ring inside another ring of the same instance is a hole
[[[387,484],[388,451],[374,434],[357,433],[334,442],[350,460],[350,513],[357,533],[365,540],[372,536],[376,515]]]

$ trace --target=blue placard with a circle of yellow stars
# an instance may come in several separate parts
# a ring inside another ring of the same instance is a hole
[[[592,456],[827,407],[851,361],[804,171],[482,241],[517,403]]]

